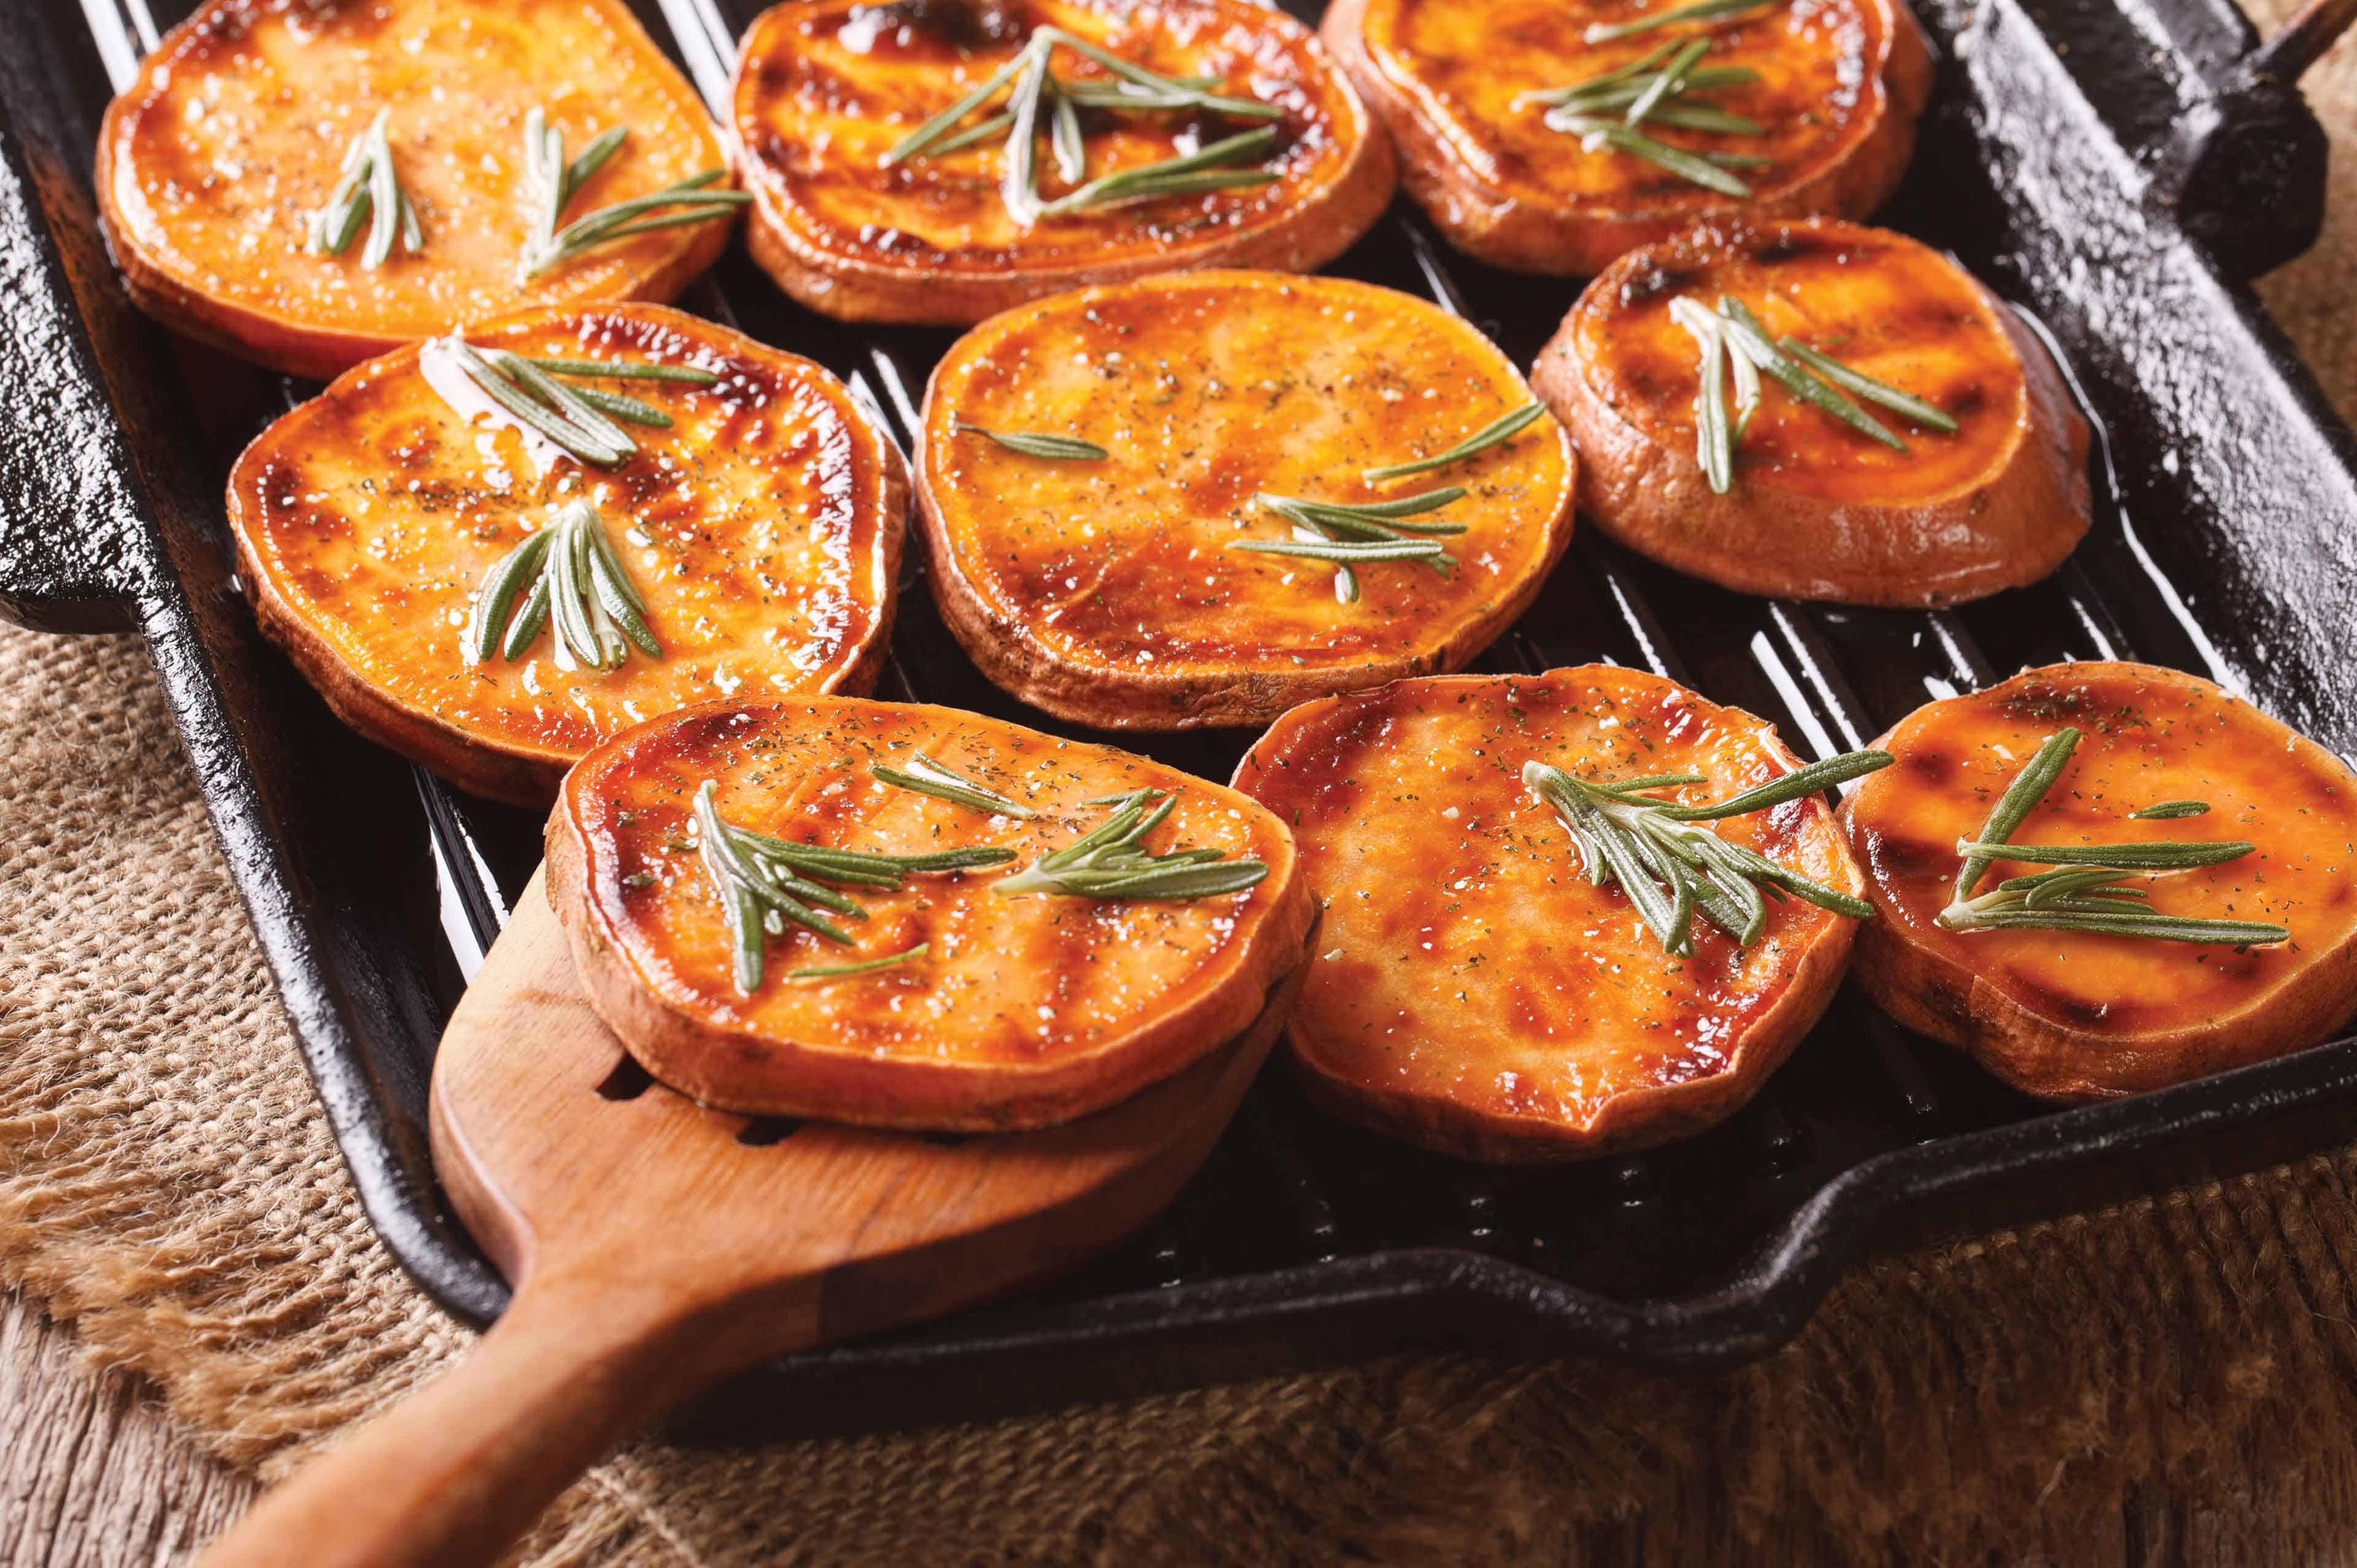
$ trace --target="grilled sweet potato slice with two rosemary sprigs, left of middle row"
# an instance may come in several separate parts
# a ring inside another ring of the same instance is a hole
[[[867,689],[907,469],[839,380],[660,304],[526,311],[467,342],[721,380],[580,380],[674,422],[627,424],[639,450],[610,469],[471,398],[441,340],[427,365],[396,349],[262,431],[229,476],[238,573],[262,630],[346,724],[537,806],[582,752],[660,712]],[[516,660],[478,663],[464,641],[486,573],[573,500],[596,507],[662,655],[568,670],[552,627]]]

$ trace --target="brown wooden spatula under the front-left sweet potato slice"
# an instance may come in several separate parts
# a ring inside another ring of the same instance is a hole
[[[1070,1269],[1211,1151],[1294,976],[1235,1042],[1065,1127],[745,1141],[747,1118],[627,1061],[535,875],[434,1063],[436,1167],[516,1297],[457,1370],[266,1495],[203,1566],[488,1563],[618,1438],[728,1372]]]

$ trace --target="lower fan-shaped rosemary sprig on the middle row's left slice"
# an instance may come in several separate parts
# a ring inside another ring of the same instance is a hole
[[[646,599],[585,500],[568,505],[483,573],[467,622],[467,653],[478,665],[493,655],[514,663],[549,620],[556,622],[561,670],[620,670],[632,646],[662,658],[662,644],[646,627]]]

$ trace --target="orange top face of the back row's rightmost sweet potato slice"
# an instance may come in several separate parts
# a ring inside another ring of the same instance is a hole
[[[1692,153],[1768,158],[1732,170],[1754,198],[1801,184],[1843,158],[1881,111],[1888,54],[1881,7],[1862,0],[1791,0],[1716,26],[1669,26],[1607,42],[1584,42],[1591,24],[1631,21],[1669,0],[1369,0],[1362,38],[1381,71],[1435,125],[1447,146],[1499,198],[1537,207],[1659,212],[1728,207],[1730,198],[1643,158],[1589,153],[1582,137],[1546,127],[1544,104],[1523,94],[1567,87],[1626,66],[1662,42],[1706,38],[1699,68],[1747,66],[1761,80],[1702,97],[1765,127],[1765,134],[1681,130],[1645,123],[1655,141]],[[1603,118],[1619,120],[1612,108]]]

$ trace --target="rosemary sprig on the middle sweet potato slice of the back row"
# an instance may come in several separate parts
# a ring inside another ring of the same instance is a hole
[[[1051,59],[1058,47],[1096,61],[1117,80],[1058,80],[1051,71]],[[1025,229],[1042,219],[1065,217],[1072,212],[1096,212],[1143,200],[1160,200],[1164,196],[1226,191],[1277,179],[1275,170],[1233,167],[1275,146],[1277,132],[1266,125],[1256,132],[1226,137],[1195,153],[1162,158],[1157,163],[1087,179],[1087,141],[1080,123],[1082,108],[1195,108],[1244,120],[1280,120],[1285,116],[1285,111],[1275,104],[1211,92],[1214,85],[1214,78],[1160,75],[1089,42],[1087,38],[1065,33],[1063,28],[1037,28],[1023,50],[992,71],[981,87],[936,113],[931,120],[903,137],[889,153],[884,153],[884,165],[891,167],[910,158],[945,156],[1004,130],[1006,141],[999,189],[1009,217]],[[995,113],[969,130],[957,130],[959,120],[976,108],[983,108],[1002,90],[1009,92],[1006,108],[1002,113]],[[1056,200],[1039,200],[1037,139],[1042,123],[1056,156],[1056,172],[1068,186],[1072,186]]]

